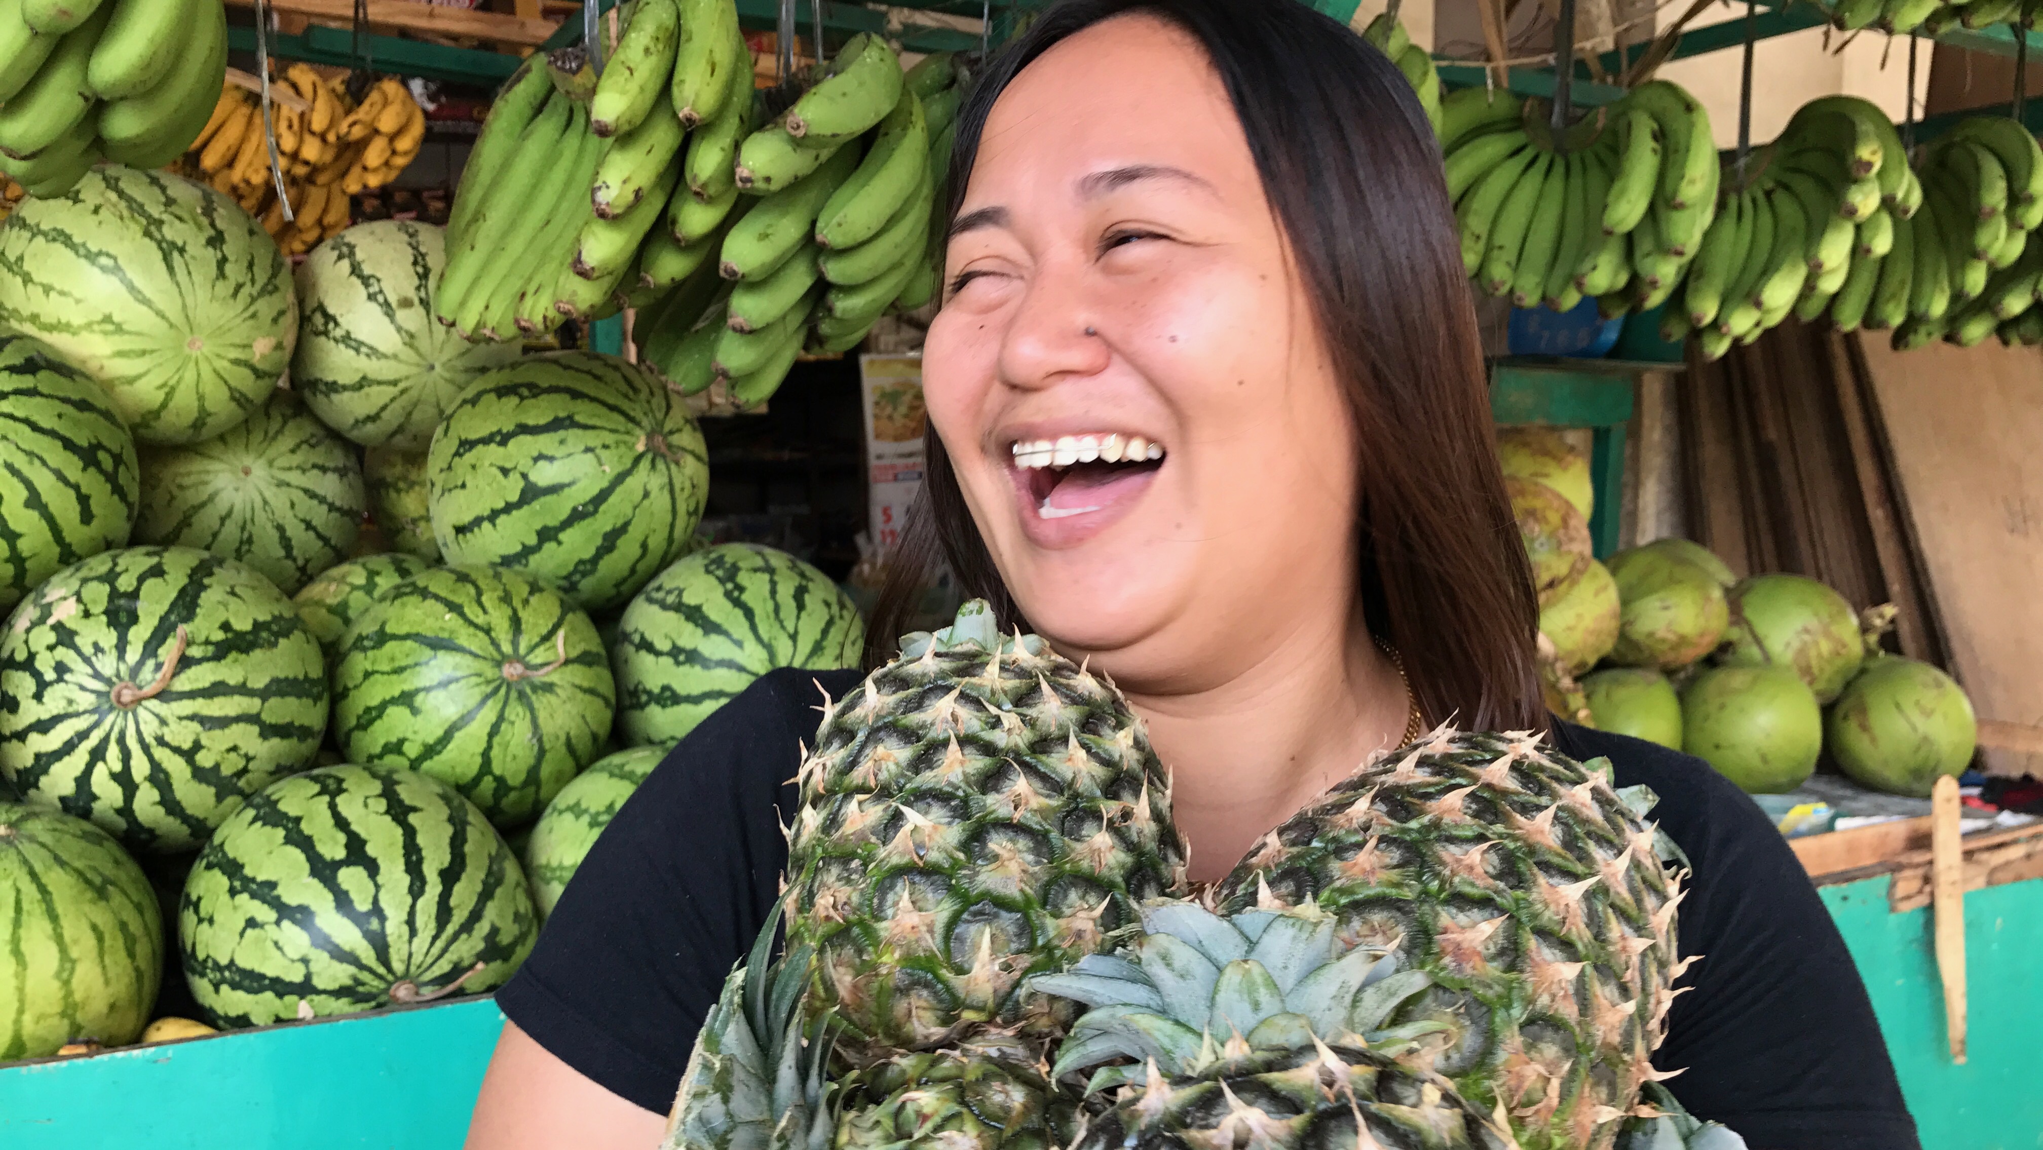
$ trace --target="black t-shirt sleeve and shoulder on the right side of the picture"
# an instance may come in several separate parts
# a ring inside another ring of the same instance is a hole
[[[1851,952],[1759,805],[1702,760],[1581,729],[1571,741],[1659,795],[1649,817],[1694,866],[1675,933],[1700,960],[1653,1056],[1681,1070],[1667,1089],[1753,1150],[1920,1150]]]

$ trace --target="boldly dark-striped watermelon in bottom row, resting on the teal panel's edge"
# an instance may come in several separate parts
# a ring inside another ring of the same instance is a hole
[[[249,797],[178,903],[184,976],[215,1025],[488,991],[537,933],[482,811],[392,766],[323,766]]]

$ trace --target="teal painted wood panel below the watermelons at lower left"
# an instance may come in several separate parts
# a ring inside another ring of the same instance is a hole
[[[494,999],[0,1066],[6,1150],[460,1150]]]

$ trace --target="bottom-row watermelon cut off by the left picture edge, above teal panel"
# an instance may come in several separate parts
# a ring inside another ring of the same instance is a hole
[[[127,1046],[163,976],[149,878],[84,819],[0,803],[0,1062]]]

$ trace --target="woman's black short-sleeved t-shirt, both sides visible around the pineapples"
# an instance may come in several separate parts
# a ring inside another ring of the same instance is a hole
[[[666,1113],[695,1032],[752,946],[787,864],[801,746],[823,690],[858,674],[778,670],[703,721],[617,813],[496,1001],[539,1046],[611,1093]],[[1667,1087],[1753,1150],[1918,1150],[1865,985],[1765,815],[1702,760],[1555,729],[1688,852],[1679,948],[1704,954],[1653,1062]]]

